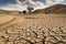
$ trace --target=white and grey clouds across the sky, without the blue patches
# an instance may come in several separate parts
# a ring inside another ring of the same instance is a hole
[[[64,0],[46,0],[46,4],[44,4],[41,1],[34,2],[33,0],[25,0],[23,2],[21,2],[20,0],[15,0],[15,1],[16,1],[15,4],[7,4],[7,6],[2,7],[1,9],[14,10],[14,11],[26,10],[28,7],[33,7],[34,9],[42,9],[42,8],[46,8],[51,4],[61,3]]]

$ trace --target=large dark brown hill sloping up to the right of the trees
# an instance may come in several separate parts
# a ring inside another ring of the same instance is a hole
[[[63,13],[65,13],[66,14],[66,6],[65,4],[55,4],[55,6],[45,8],[45,9],[35,10],[32,13],[43,13],[43,14],[44,13],[45,14],[48,14],[48,13],[63,14]]]

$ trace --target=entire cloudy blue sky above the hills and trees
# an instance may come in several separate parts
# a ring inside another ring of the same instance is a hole
[[[42,9],[56,3],[66,4],[66,0],[0,0],[0,9],[4,10],[26,10],[28,7]]]

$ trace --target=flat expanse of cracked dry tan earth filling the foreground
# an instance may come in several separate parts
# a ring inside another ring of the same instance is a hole
[[[0,44],[66,44],[66,15],[22,15],[20,20],[22,18],[19,23],[2,25]]]

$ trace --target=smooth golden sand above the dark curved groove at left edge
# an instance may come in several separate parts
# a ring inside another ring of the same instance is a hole
[[[8,24],[10,22],[14,21],[14,18],[13,16],[9,16],[9,15],[0,15],[0,25],[3,25],[3,24]]]

